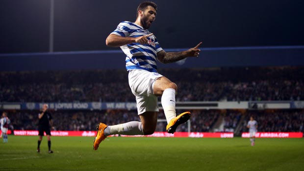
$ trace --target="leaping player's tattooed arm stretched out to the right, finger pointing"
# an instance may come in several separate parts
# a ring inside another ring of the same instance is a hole
[[[161,50],[157,52],[157,59],[164,64],[167,63],[174,63],[180,60],[183,60],[187,57],[199,57],[200,55],[200,45],[202,42],[200,42],[198,45],[196,45],[193,48],[190,48],[186,51],[181,51],[181,52],[165,52],[164,50]]]

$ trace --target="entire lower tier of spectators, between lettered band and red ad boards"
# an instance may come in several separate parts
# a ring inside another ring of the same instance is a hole
[[[248,110],[246,113],[227,110],[190,110],[190,131],[211,132],[213,126],[220,116],[224,117],[224,127],[226,131],[234,130],[241,117],[244,120],[241,125],[241,132],[247,132],[247,123],[250,116],[253,116],[258,123],[258,131],[263,132],[304,132],[304,110]],[[12,129],[37,130],[38,112],[21,110],[9,112],[12,122]],[[177,113],[181,112],[177,110]],[[107,125],[116,125],[129,121],[140,121],[136,110],[101,110],[101,111],[73,111],[61,110],[51,111],[53,116],[53,126],[55,130],[96,130],[96,125],[104,122]],[[156,131],[166,131],[167,122],[160,110]],[[182,124],[177,131],[188,131],[188,125]],[[232,131],[233,132],[233,131]]]

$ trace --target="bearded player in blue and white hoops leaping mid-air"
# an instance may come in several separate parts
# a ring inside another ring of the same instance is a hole
[[[100,123],[97,126],[97,136],[94,140],[94,150],[97,150],[106,136],[150,135],[157,124],[157,96],[161,96],[161,105],[167,119],[167,132],[174,133],[177,126],[190,118],[190,112],[177,116],[175,95],[177,85],[168,78],[157,73],[156,59],[161,63],[173,63],[187,57],[199,57],[199,43],[193,48],[181,52],[165,52],[153,33],[150,33],[155,20],[157,5],[144,1],[137,8],[135,22],[123,21],[107,37],[106,45],[120,47],[126,57],[126,68],[129,71],[128,80],[132,93],[136,97],[138,115],[141,122],[132,121],[124,124],[107,126]]]

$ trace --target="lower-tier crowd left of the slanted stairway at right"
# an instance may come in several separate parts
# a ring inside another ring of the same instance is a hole
[[[177,111],[178,112],[178,111]],[[216,111],[191,110],[191,130],[208,132],[217,120]],[[21,110],[10,113],[12,126],[18,130],[37,130],[39,111]],[[140,121],[136,110],[101,110],[101,111],[51,111],[53,126],[56,130],[96,130],[96,125],[104,122],[107,125],[117,125],[130,121]],[[163,112],[158,113],[158,119],[165,120]],[[166,131],[167,122],[158,122],[156,131]],[[183,124],[177,131],[188,131]]]

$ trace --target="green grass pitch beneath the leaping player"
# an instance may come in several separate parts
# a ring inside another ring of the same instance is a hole
[[[299,171],[304,139],[110,137],[93,150],[94,137],[51,137],[37,153],[33,136],[0,141],[0,171]]]

